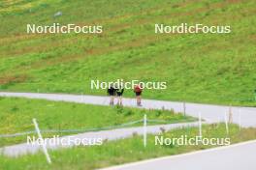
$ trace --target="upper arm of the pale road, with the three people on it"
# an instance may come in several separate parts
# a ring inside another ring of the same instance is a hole
[[[87,95],[62,95],[62,94],[36,94],[36,93],[5,93],[0,92],[0,97],[22,97],[29,99],[48,99],[63,100],[79,103],[108,105],[108,97],[97,97]],[[125,106],[136,106],[135,99],[123,99]],[[229,106],[186,103],[186,112],[188,115],[198,117],[202,114],[202,118],[208,123],[224,122],[225,114],[229,112]],[[163,101],[154,99],[144,99],[143,108],[154,109],[174,109],[176,112],[183,112],[183,103],[175,101]],[[242,127],[256,127],[256,108],[254,107],[232,107],[233,122],[240,124]]]

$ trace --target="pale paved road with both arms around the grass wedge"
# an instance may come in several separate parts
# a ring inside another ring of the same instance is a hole
[[[0,92],[0,97],[19,97],[28,99],[48,99],[48,100],[62,100],[79,103],[90,103],[108,105],[108,97],[95,97],[95,96],[80,96],[80,95],[60,95],[60,94],[35,94],[35,93],[4,93]],[[135,99],[124,99],[123,103],[125,106],[136,106]],[[143,108],[154,108],[154,109],[174,109],[176,112],[183,111],[182,102],[173,101],[162,101],[153,99],[144,99]],[[186,112],[188,115],[197,117],[198,113],[202,113],[202,118],[206,120],[206,123],[217,123],[224,122],[224,115],[229,111],[227,106],[218,106],[210,104],[197,104],[197,103],[186,103]],[[234,123],[240,123],[242,127],[256,127],[256,108],[250,107],[232,107]],[[190,126],[196,126],[197,124],[191,123]],[[148,128],[148,132],[157,133],[160,127],[166,129],[177,128],[183,126],[183,124],[176,125],[165,125],[165,126],[153,126]],[[143,128],[121,128],[114,130],[105,130],[98,132],[87,132],[76,135],[80,138],[101,136],[103,139],[118,139],[131,136],[134,132],[142,134]],[[65,136],[67,137],[67,136]],[[55,149],[63,146],[52,146],[48,145],[48,148]],[[36,153],[40,149],[39,146],[29,146],[27,144],[19,144],[0,149],[0,153],[7,156],[18,156],[27,153]]]

